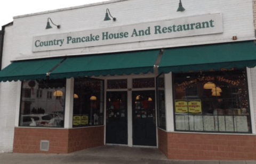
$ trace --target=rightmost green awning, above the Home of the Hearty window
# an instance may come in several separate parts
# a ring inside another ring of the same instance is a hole
[[[165,49],[158,73],[220,70],[256,66],[254,41]]]

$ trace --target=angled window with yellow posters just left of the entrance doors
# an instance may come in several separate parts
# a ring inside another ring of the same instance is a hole
[[[103,125],[103,80],[75,79],[73,127]]]

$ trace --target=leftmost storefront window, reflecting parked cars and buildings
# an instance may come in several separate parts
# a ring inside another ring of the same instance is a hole
[[[64,127],[65,95],[66,79],[23,81],[19,126]]]

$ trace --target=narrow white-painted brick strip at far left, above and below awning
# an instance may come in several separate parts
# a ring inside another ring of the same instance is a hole
[[[13,26],[6,27],[3,50],[3,67],[13,58]],[[12,152],[14,137],[17,82],[0,83],[0,152]]]

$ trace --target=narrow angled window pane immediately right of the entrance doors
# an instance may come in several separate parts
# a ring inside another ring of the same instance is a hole
[[[158,111],[158,127],[166,130],[165,119],[165,96],[164,96],[164,74],[156,78],[157,83],[157,111]]]

